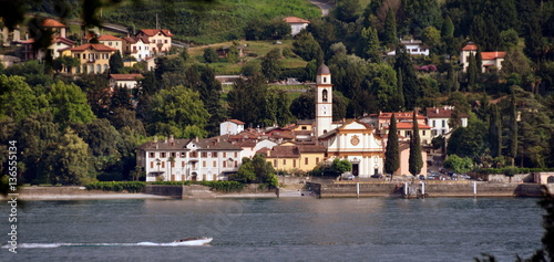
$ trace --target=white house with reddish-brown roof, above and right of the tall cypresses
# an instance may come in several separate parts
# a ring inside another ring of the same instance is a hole
[[[452,117],[453,106],[429,107],[427,108],[428,124],[431,126],[431,138],[447,135],[452,132],[449,122]],[[461,126],[468,126],[468,115],[460,114]]]

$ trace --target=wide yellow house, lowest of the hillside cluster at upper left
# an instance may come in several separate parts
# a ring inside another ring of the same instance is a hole
[[[70,49],[71,56],[79,59],[81,66],[71,69],[71,73],[104,73],[110,69],[110,57],[116,49],[100,43],[88,43]]]

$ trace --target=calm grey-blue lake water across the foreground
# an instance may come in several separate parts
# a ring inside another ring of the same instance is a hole
[[[28,201],[0,261],[499,261],[541,248],[537,199]],[[2,244],[9,209],[0,203]],[[167,247],[213,237],[208,247]]]

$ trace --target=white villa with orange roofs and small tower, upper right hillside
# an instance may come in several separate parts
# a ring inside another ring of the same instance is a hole
[[[468,71],[468,66],[470,66],[470,53],[476,55],[478,45],[472,42],[465,44],[460,52],[460,64],[462,64],[463,72]],[[500,71],[502,70],[502,62],[504,61],[504,56],[506,52],[481,52],[481,72],[491,72],[491,71]]]

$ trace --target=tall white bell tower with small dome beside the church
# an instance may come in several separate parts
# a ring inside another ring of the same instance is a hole
[[[316,135],[319,137],[331,130],[332,124],[331,72],[325,64],[317,70],[316,90]]]

